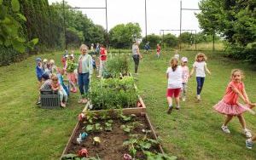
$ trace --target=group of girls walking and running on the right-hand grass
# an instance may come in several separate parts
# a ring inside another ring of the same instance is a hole
[[[188,59],[183,57],[181,59],[180,66],[178,65],[179,54],[176,54],[170,60],[170,67],[167,68],[166,77],[168,79],[166,99],[168,102],[167,113],[172,112],[172,98],[176,101],[176,109],[180,108],[179,99],[182,98],[183,101],[186,100],[187,83],[189,77],[192,77],[195,72],[196,77],[196,98],[198,101],[201,100],[201,90],[205,82],[206,72],[211,75],[211,71],[207,68],[207,56],[203,53],[196,54],[195,62],[193,64],[192,70],[189,73],[189,67],[187,66]],[[233,117],[238,117],[243,133],[246,135],[248,140],[246,140],[246,146],[252,149],[253,141],[256,140],[256,136],[252,138],[252,134],[246,127],[246,122],[242,114],[245,111],[251,111],[251,109],[256,106],[256,103],[252,103],[248,97],[242,82],[244,78],[243,71],[235,69],[231,71],[230,83],[226,88],[226,92],[222,100],[218,102],[213,109],[221,114],[225,115],[225,120],[221,129],[226,134],[230,134],[230,129],[228,129],[227,124],[230,123]],[[182,91],[182,95],[180,93]],[[243,100],[245,105],[239,103],[238,99]]]

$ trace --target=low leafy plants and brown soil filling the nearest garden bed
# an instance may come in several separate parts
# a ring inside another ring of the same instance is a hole
[[[79,121],[72,145],[67,148],[69,154],[63,155],[63,160],[177,159],[160,151],[160,139],[154,139],[145,117],[127,116],[121,111],[102,111],[97,115],[94,112],[81,113]]]

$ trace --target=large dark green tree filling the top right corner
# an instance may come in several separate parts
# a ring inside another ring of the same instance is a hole
[[[199,8],[196,16],[203,31],[224,37],[232,56],[256,60],[255,0],[201,0]]]

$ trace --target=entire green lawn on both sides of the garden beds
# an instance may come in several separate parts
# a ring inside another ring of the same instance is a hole
[[[239,61],[207,53],[212,76],[206,79],[201,103],[195,101],[193,77],[182,109],[167,115],[166,68],[172,54],[164,52],[160,60],[153,54],[144,55],[137,76],[138,89],[165,151],[180,159],[255,159],[256,147],[252,151],[245,148],[238,120],[230,123],[231,134],[224,134],[220,130],[224,117],[212,111],[212,106],[222,98],[232,68],[245,71],[247,94],[256,101],[256,72]],[[195,52],[182,55],[189,57],[191,67]],[[60,53],[40,56],[60,64]],[[84,107],[77,104],[79,94],[72,94],[67,109],[38,108],[35,58],[0,67],[0,159],[58,159]],[[247,127],[256,133],[255,117],[249,113],[245,117]]]

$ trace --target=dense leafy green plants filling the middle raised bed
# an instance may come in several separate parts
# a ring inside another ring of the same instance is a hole
[[[133,77],[103,78],[91,85],[89,98],[94,110],[137,106],[137,89]]]

